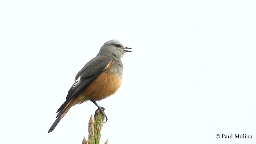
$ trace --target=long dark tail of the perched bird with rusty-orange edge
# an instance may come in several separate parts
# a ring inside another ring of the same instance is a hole
[[[60,106],[60,109],[57,111],[59,112],[56,116],[56,120],[55,122],[52,124],[52,126],[50,127],[49,132],[51,132],[52,130],[54,130],[54,128],[58,125],[58,123],[60,122],[60,120],[65,116],[65,114],[68,112],[68,110],[74,106],[76,104],[76,100],[73,98],[71,99],[68,104],[65,104],[66,102],[64,102],[64,104],[62,104],[62,106]],[[65,106],[66,105],[66,106]],[[63,108],[62,108],[63,107]]]

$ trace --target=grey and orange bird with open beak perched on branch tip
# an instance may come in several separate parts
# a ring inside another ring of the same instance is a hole
[[[75,82],[68,90],[66,101],[60,106],[56,113],[56,120],[50,127],[49,132],[54,130],[60,120],[76,104],[86,101],[93,102],[100,112],[106,117],[96,101],[100,101],[114,94],[122,82],[122,57],[132,48],[125,47],[119,40],[110,40],[103,44],[96,57],[87,62],[76,74]]]

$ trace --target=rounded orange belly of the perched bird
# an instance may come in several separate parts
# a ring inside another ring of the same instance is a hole
[[[76,104],[86,100],[98,101],[107,98],[120,88],[121,82],[122,79],[115,74],[103,72],[79,94]]]

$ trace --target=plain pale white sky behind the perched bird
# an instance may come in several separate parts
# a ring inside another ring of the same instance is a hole
[[[255,144],[255,0],[0,0],[0,143],[81,144],[92,102],[48,134],[104,42],[134,52],[98,104],[101,144]],[[246,134],[252,139],[222,139]]]

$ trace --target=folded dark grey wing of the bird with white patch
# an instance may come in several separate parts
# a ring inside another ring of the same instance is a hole
[[[78,96],[79,92],[84,90],[111,62],[113,59],[106,56],[96,56],[90,60],[76,75],[76,81],[68,91],[66,102],[60,106],[57,112],[60,112],[72,98]]]

